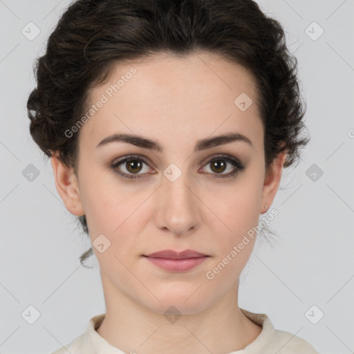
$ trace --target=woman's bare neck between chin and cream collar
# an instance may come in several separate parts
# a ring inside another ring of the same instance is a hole
[[[261,327],[238,306],[239,280],[214,304],[195,312],[170,305],[147,308],[115,288],[102,273],[106,316],[97,333],[126,353],[230,353],[254,341]],[[186,301],[187,302],[187,301]],[[171,315],[164,309],[170,308]]]

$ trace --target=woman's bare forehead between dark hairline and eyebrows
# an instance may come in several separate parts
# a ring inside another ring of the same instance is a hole
[[[96,109],[80,132],[96,145],[120,132],[161,141],[165,135],[179,143],[183,136],[198,140],[213,132],[262,132],[252,74],[216,54],[161,54],[118,62],[112,69],[106,82],[91,90],[88,109]]]

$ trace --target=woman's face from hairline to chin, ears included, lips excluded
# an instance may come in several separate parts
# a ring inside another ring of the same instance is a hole
[[[235,104],[241,93],[253,103],[243,95],[245,104]],[[265,174],[250,74],[211,53],[160,55],[117,64],[91,92],[92,104],[80,128],[77,176],[61,184],[58,171],[66,169],[54,161],[53,168],[66,207],[86,214],[105,290],[158,313],[172,305],[197,313],[236,292],[254,238],[239,252],[234,246],[272,203],[281,171]],[[133,138],[102,142],[114,134]],[[187,249],[208,257],[180,271],[145,257]]]

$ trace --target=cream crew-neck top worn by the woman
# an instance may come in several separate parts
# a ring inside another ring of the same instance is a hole
[[[305,339],[273,327],[270,319],[263,313],[250,313],[240,310],[255,324],[262,326],[262,331],[254,341],[240,351],[225,354],[319,354]],[[127,354],[101,337],[95,330],[105,317],[105,313],[92,317],[86,332],[75,338],[65,348],[59,348],[52,354]],[[281,351],[280,351],[281,349]],[[129,353],[128,353],[129,354]]]

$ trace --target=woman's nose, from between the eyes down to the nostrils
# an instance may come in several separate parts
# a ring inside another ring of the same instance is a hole
[[[172,181],[162,176],[156,193],[156,225],[160,230],[183,236],[201,225],[201,201],[187,174]]]

